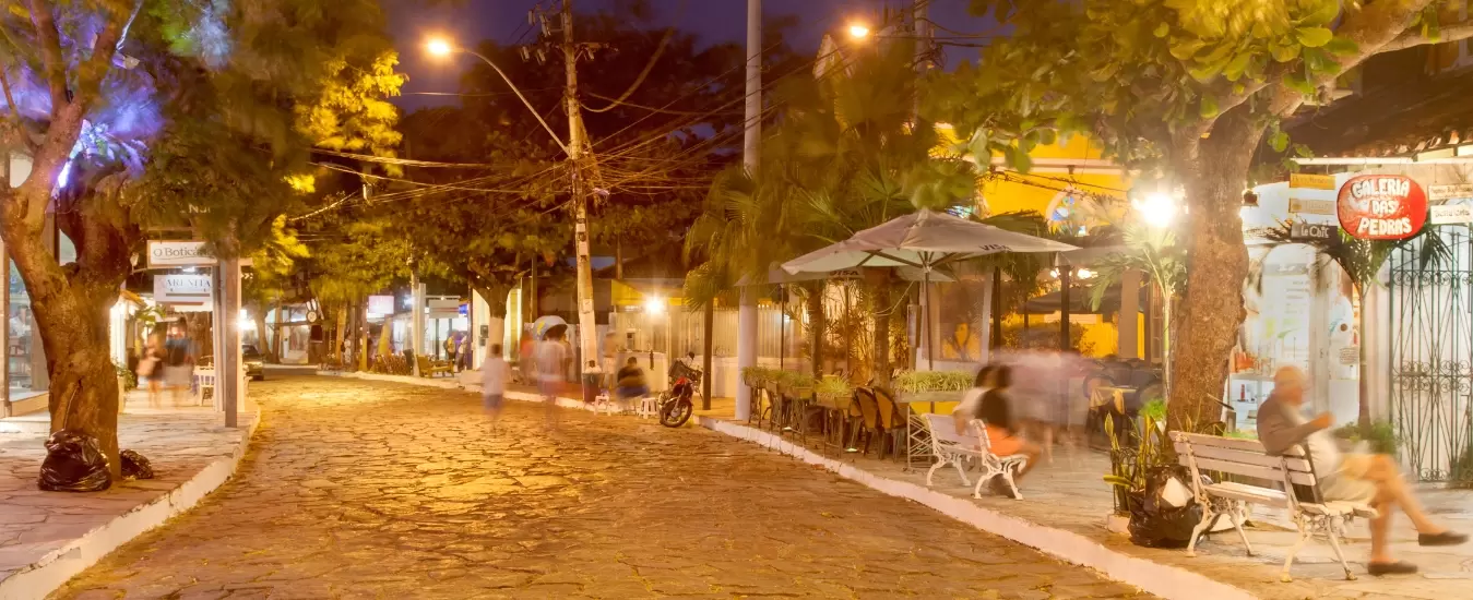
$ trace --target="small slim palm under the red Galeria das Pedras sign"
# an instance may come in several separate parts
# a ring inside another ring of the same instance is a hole
[[[1365,293],[1370,285],[1377,284],[1377,274],[1380,274],[1386,260],[1396,251],[1414,251],[1417,254],[1417,269],[1420,271],[1436,269],[1441,265],[1455,262],[1457,257],[1452,256],[1452,249],[1442,240],[1442,235],[1429,234],[1429,228],[1423,228],[1417,235],[1404,240],[1360,240],[1351,237],[1343,229],[1337,229],[1337,235],[1332,235],[1330,238],[1299,240],[1292,232],[1292,224],[1280,224],[1276,228],[1256,232],[1276,246],[1307,244],[1314,247],[1318,251],[1318,260],[1315,260],[1311,269],[1315,287],[1320,287],[1324,281],[1326,269],[1330,263],[1337,265],[1342,275],[1351,279],[1357,301],[1361,304],[1360,316],[1355,319],[1357,335],[1361,340],[1357,363],[1360,372],[1360,413],[1357,425],[1361,429],[1367,429],[1371,425],[1370,390],[1365,385],[1365,372],[1368,368],[1365,357]],[[1255,285],[1262,285],[1261,265],[1252,274],[1252,281]]]

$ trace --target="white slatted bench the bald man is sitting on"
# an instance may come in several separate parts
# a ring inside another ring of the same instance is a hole
[[[1299,538],[1295,540],[1284,559],[1280,579],[1293,581],[1289,568],[1293,566],[1293,559],[1304,549],[1304,544],[1314,535],[1324,535],[1330,541],[1335,557],[1345,569],[1345,578],[1355,579],[1355,574],[1345,562],[1345,553],[1340,551],[1340,538],[1345,537],[1345,525],[1351,519],[1355,516],[1374,518],[1376,509],[1361,503],[1326,501],[1320,494],[1314,465],[1302,449],[1295,447],[1286,456],[1268,456],[1264,451],[1264,444],[1258,440],[1223,438],[1181,431],[1173,431],[1171,441],[1177,450],[1177,460],[1192,471],[1192,493],[1202,504],[1202,522],[1192,532],[1187,556],[1196,556],[1198,538],[1224,515],[1233,521],[1233,528],[1243,538],[1243,547],[1252,556],[1254,547],[1248,543],[1243,521],[1246,521],[1246,504],[1254,503],[1287,510],[1299,529]],[[1282,488],[1242,482],[1203,484],[1203,471],[1264,479],[1271,485],[1282,485]],[[1312,499],[1301,500],[1293,493],[1295,485],[1312,490]]]

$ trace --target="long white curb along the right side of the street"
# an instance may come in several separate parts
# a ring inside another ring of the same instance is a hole
[[[784,440],[782,435],[738,425],[729,421],[697,416],[697,422],[711,431],[750,441],[763,447],[778,450],[809,465],[822,466],[838,476],[856,481],[878,490],[887,496],[894,496],[925,504],[941,515],[972,525],[990,534],[1002,535],[1024,546],[1034,547],[1046,554],[1062,560],[1089,566],[1105,574],[1111,579],[1121,581],[1143,591],[1181,600],[1252,600],[1256,596],[1234,585],[1211,579],[1196,572],[1162,565],[1119,553],[1090,540],[1084,535],[1065,529],[1043,526],[1030,521],[1000,513],[978,506],[971,499],[960,499],[947,493],[929,490],[906,481],[888,479],[854,465],[834,460],[812,450]],[[1027,501],[1027,500],[1024,500]]]

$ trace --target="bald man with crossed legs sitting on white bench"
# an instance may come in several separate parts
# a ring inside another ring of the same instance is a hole
[[[1299,412],[1302,406],[1304,372],[1293,366],[1279,369],[1274,374],[1274,391],[1258,407],[1258,441],[1270,456],[1282,456],[1289,449],[1305,444],[1326,501],[1367,503],[1376,509],[1379,516],[1371,519],[1371,560],[1365,565],[1371,575],[1417,572],[1417,565],[1391,557],[1386,537],[1392,506],[1399,506],[1411,518],[1421,546],[1457,546],[1467,541],[1467,535],[1427,519],[1391,456],[1342,454],[1329,432],[1333,425],[1330,415],[1305,421]]]

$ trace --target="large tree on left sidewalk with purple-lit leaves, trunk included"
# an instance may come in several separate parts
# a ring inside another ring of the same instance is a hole
[[[29,172],[0,187],[0,235],[35,312],[52,426],[99,438],[116,475],[106,315],[144,235],[183,228],[225,257],[270,240],[275,216],[299,201],[292,184],[306,179],[292,176],[305,150],[333,143],[314,134],[351,137],[384,116],[340,106],[333,82],[386,56],[392,66],[392,54],[371,0],[6,9],[3,144],[29,159]],[[345,119],[314,119],[327,113]],[[72,263],[49,241],[52,216],[77,247]]]

